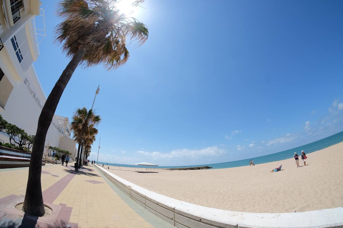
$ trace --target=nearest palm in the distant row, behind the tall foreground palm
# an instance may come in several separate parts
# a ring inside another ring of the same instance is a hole
[[[75,141],[78,142],[78,159],[75,164],[75,171],[79,171],[82,165],[82,150],[88,138],[95,137],[98,130],[95,128],[101,118],[99,115],[95,115],[94,111],[90,109],[87,111],[86,107],[78,108],[74,112],[71,122],[71,130],[74,132]]]

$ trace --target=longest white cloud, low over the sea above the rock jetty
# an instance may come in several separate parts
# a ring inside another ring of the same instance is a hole
[[[162,153],[159,151],[155,152],[146,152],[139,150],[136,153],[139,155],[144,155],[155,160],[159,159],[171,159],[171,158],[198,158],[202,156],[218,156],[226,153],[226,150],[223,148],[218,148],[217,146],[206,147],[200,150],[191,150],[191,149],[176,149],[168,153]]]

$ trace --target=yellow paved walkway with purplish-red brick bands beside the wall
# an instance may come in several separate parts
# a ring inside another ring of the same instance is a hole
[[[173,227],[123,194],[93,165],[73,170],[73,163],[42,166],[43,199],[53,211],[44,217],[14,208],[24,201],[28,167],[0,170],[0,227]]]

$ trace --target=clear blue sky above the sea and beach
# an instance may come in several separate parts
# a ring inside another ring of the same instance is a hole
[[[69,62],[53,43],[57,1],[34,63],[49,94]],[[343,130],[342,1],[146,0],[128,63],[74,72],[56,114],[103,120],[99,161],[192,165],[279,152]]]

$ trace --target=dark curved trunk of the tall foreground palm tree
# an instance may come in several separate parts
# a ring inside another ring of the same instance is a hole
[[[78,52],[70,60],[66,69],[63,70],[54,88],[52,88],[51,93],[44,104],[42,112],[40,112],[36,137],[32,147],[30,166],[28,169],[28,179],[23,207],[25,213],[37,216],[42,216],[45,214],[42,185],[40,182],[45,137],[62,93],[66,88],[71,76],[73,75],[73,72],[85,54],[86,47],[81,46]]]

